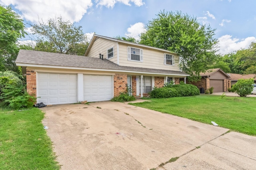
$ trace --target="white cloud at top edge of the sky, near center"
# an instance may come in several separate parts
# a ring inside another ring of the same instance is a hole
[[[106,6],[108,8],[113,8],[117,2],[121,2],[125,5],[131,6],[130,2],[133,2],[136,6],[144,5],[142,0],[95,0],[97,6]]]

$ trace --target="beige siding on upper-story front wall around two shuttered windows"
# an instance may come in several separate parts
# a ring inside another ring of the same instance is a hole
[[[180,71],[180,68],[178,67],[178,63],[175,61],[176,59],[178,59],[176,54],[170,53],[171,55],[174,55],[174,62],[175,62],[174,65],[166,65],[164,64],[163,51],[143,48],[143,62],[128,61],[127,47],[142,49],[142,47],[139,47],[139,46],[137,47],[130,46],[130,45],[128,46],[128,45],[119,43],[119,65],[120,66],[134,66],[134,67],[142,67],[142,68],[155,68],[155,69],[162,69],[162,70]]]

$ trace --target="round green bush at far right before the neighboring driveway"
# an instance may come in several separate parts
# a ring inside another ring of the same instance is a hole
[[[232,86],[234,92],[236,92],[240,97],[246,97],[252,93],[254,80],[250,79],[239,79],[236,84]]]

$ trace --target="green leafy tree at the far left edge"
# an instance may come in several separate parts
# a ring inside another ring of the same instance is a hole
[[[26,35],[25,25],[20,16],[10,6],[0,5],[0,71],[18,68],[14,61],[18,55],[17,41]]]

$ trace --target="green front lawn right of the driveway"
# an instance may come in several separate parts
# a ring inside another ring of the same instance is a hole
[[[131,105],[256,135],[256,98],[200,95],[150,100]]]

